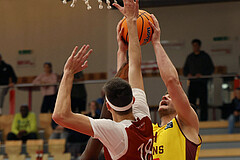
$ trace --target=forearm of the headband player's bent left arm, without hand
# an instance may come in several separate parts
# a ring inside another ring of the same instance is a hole
[[[67,117],[71,111],[71,90],[74,75],[69,73],[64,73],[62,81],[60,83],[58,96],[56,100],[56,105],[53,112],[53,119],[57,123],[61,122],[65,117]]]

